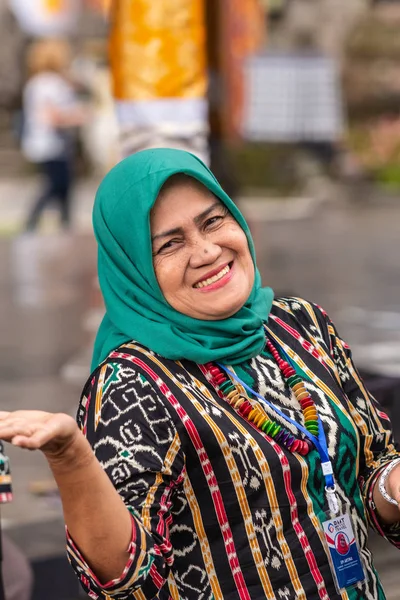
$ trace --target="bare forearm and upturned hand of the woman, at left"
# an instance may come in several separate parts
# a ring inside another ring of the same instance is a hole
[[[40,411],[3,412],[0,438],[43,451],[74,542],[102,582],[120,577],[128,559],[132,519],[74,419]]]

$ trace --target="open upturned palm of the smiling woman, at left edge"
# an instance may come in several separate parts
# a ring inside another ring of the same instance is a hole
[[[14,446],[41,450],[58,458],[83,436],[75,420],[63,413],[40,410],[0,412],[0,439]]]

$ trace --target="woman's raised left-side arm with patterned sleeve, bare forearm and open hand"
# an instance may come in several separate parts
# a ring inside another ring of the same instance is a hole
[[[175,425],[158,389],[118,363],[86,386],[78,423],[64,414],[0,413],[0,439],[45,453],[85,591],[154,598],[173,563],[171,510],[185,474]]]

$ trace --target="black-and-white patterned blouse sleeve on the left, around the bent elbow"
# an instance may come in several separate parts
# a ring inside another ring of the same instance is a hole
[[[174,423],[145,376],[117,362],[94,376],[78,422],[131,513],[132,539],[123,573],[106,584],[67,532],[69,560],[90,598],[154,598],[173,563],[171,508],[185,467]]]

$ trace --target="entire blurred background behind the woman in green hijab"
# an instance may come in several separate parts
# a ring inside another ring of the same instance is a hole
[[[1,409],[75,414],[103,311],[95,191],[164,145],[211,165],[264,283],[328,311],[399,439],[399,27],[396,0],[0,0]],[[46,463],[7,451],[32,598],[77,600]],[[394,600],[395,550],[371,544]]]

